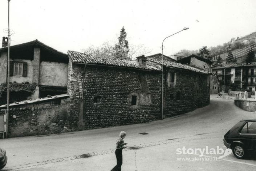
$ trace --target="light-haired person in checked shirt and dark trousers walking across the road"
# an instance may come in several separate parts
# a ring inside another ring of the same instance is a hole
[[[126,132],[121,131],[119,137],[117,138],[117,147],[115,149],[115,157],[117,158],[117,165],[111,169],[111,171],[121,171],[121,166],[123,164],[122,150],[127,148],[127,143],[123,143],[123,139],[126,137]]]

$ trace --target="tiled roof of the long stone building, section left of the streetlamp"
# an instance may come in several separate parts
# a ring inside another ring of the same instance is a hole
[[[68,51],[69,59],[72,63],[82,63],[82,64],[97,64],[97,65],[108,65],[115,67],[129,67],[137,69],[146,70],[157,70],[160,71],[161,68],[152,65],[147,65],[146,67],[139,66],[137,61],[134,60],[123,60],[117,58],[107,58],[102,56],[87,55],[81,52]]]

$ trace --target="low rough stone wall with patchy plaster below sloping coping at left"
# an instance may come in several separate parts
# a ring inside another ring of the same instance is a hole
[[[9,137],[74,131],[70,128],[69,98],[10,106]],[[4,109],[0,109],[0,115]]]

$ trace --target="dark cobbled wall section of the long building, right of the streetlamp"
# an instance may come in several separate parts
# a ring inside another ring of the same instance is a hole
[[[166,73],[165,117],[193,111],[210,103],[210,80],[207,74],[178,69],[168,69]]]

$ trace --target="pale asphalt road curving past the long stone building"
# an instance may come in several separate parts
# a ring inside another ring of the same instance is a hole
[[[3,171],[110,171],[122,130],[128,143],[123,171],[256,170],[255,159],[236,159],[233,154],[221,159],[215,158],[221,154],[177,154],[183,147],[225,150],[224,134],[239,120],[256,115],[236,107],[233,100],[214,97],[209,106],[151,123],[0,140],[8,156]],[[187,161],[178,161],[181,158]]]

